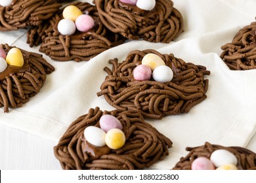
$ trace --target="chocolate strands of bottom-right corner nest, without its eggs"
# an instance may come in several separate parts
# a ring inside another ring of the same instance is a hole
[[[256,170],[256,154],[247,150],[246,148],[238,147],[238,146],[220,146],[217,144],[210,144],[209,142],[205,142],[203,146],[198,146],[194,148],[186,148],[189,151],[186,157],[182,157],[180,161],[173,167],[174,170],[190,170],[191,164],[194,159],[199,157],[210,158],[211,153],[215,150],[224,149],[228,150],[236,158],[238,159],[238,169],[240,170]]]

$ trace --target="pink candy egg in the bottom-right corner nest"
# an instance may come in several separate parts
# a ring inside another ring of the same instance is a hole
[[[205,157],[196,158],[191,165],[192,170],[214,170],[215,167],[210,159]]]

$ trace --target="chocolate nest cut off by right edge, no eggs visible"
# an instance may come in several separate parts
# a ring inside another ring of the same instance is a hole
[[[256,69],[256,22],[240,29],[232,42],[224,44],[221,58],[231,70]]]

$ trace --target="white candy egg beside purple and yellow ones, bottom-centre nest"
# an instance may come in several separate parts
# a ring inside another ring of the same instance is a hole
[[[102,147],[106,145],[106,132],[95,126],[89,126],[84,131],[85,139],[94,146]]]

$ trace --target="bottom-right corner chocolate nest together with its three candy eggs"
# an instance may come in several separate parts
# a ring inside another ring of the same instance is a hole
[[[187,147],[186,150],[189,151],[188,155],[180,159],[174,170],[256,170],[256,154],[246,148],[205,142],[203,146]]]

